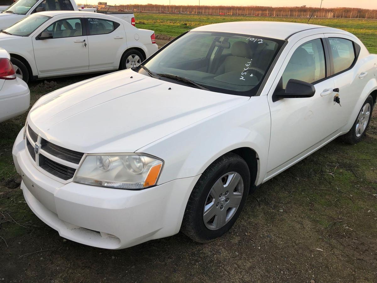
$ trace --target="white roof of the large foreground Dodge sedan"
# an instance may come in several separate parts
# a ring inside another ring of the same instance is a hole
[[[231,32],[236,34],[247,34],[260,37],[269,37],[276,39],[287,39],[292,34],[308,29],[328,28],[326,26],[311,25],[305,23],[289,22],[268,22],[268,21],[245,21],[245,22],[228,22],[216,23],[212,25],[200,26],[192,31],[218,31]],[[339,29],[328,28],[329,32],[339,31]]]

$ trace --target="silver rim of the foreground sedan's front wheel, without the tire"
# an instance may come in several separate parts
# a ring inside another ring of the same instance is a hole
[[[237,172],[229,172],[212,186],[203,209],[203,221],[210,230],[223,227],[236,213],[244,193],[244,181]]]

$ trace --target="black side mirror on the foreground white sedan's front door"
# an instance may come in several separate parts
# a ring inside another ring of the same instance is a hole
[[[282,98],[303,98],[303,97],[313,97],[316,93],[316,88],[311,83],[303,82],[300,80],[295,80],[291,78],[285,91],[276,92],[273,95],[273,102]]]

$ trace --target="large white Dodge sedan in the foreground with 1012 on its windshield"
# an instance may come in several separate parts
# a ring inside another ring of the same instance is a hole
[[[208,25],[40,98],[13,157],[26,202],[65,238],[207,242],[265,181],[336,137],[359,142],[376,101],[377,55],[349,32]]]

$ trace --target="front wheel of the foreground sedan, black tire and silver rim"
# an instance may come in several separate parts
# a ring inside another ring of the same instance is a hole
[[[233,190],[231,188],[234,184],[236,186]],[[207,243],[221,237],[236,222],[245,205],[249,188],[250,171],[245,160],[234,153],[219,157],[208,166],[193,188],[181,231],[199,243]],[[237,208],[236,203],[239,203]],[[215,215],[211,217],[213,213]]]

